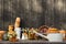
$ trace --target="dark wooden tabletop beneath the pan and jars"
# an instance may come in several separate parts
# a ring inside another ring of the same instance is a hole
[[[48,41],[19,41],[19,42],[9,42],[1,41],[0,44],[66,44],[66,42],[48,42]]]

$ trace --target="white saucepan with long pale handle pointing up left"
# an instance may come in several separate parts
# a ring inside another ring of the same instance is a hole
[[[63,34],[61,34],[61,33],[48,33],[47,35],[43,35],[41,33],[37,33],[34,30],[33,30],[33,33],[47,38],[48,42],[63,42]]]

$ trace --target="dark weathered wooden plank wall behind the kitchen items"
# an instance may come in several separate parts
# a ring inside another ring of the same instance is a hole
[[[22,28],[54,25],[66,30],[66,0],[0,0],[0,28],[8,30],[16,16]]]

